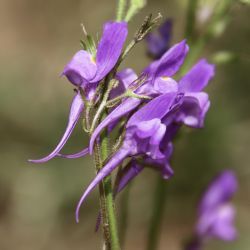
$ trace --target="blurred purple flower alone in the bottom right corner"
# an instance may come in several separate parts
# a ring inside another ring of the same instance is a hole
[[[195,238],[187,250],[200,250],[204,241],[211,238],[224,241],[236,238],[235,208],[230,200],[237,186],[236,176],[230,170],[223,171],[209,185],[199,204]]]

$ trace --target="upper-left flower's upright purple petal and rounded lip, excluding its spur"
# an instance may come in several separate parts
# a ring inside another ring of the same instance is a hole
[[[65,75],[71,83],[81,86],[86,97],[91,99],[96,86],[117,63],[128,34],[126,22],[107,22],[98,44],[96,56],[80,50],[64,68]]]

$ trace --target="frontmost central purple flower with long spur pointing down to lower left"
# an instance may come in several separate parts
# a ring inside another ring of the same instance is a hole
[[[126,125],[126,135],[122,146],[97,173],[81,197],[76,210],[77,221],[79,221],[80,206],[88,194],[126,157],[144,155],[153,160],[166,159],[166,155],[161,151],[161,143],[165,144],[163,139],[167,134],[167,127],[181,100],[182,96],[174,92],[160,95],[131,116]],[[167,171],[169,169],[166,169]],[[169,175],[171,174],[172,171],[169,172]]]

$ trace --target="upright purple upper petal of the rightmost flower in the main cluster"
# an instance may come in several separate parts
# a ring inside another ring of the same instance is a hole
[[[214,65],[201,59],[192,69],[179,81],[179,91],[199,92],[203,90],[214,76]]]

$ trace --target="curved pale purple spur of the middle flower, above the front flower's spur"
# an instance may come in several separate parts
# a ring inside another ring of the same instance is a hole
[[[89,142],[89,152],[90,154],[93,153],[93,148],[94,148],[94,142],[100,132],[110,125],[111,123],[115,122],[117,119],[120,117],[128,114],[132,110],[134,110],[136,107],[139,106],[141,103],[141,100],[138,98],[127,98],[124,100],[119,106],[117,106],[95,129],[93,132],[90,142]]]

